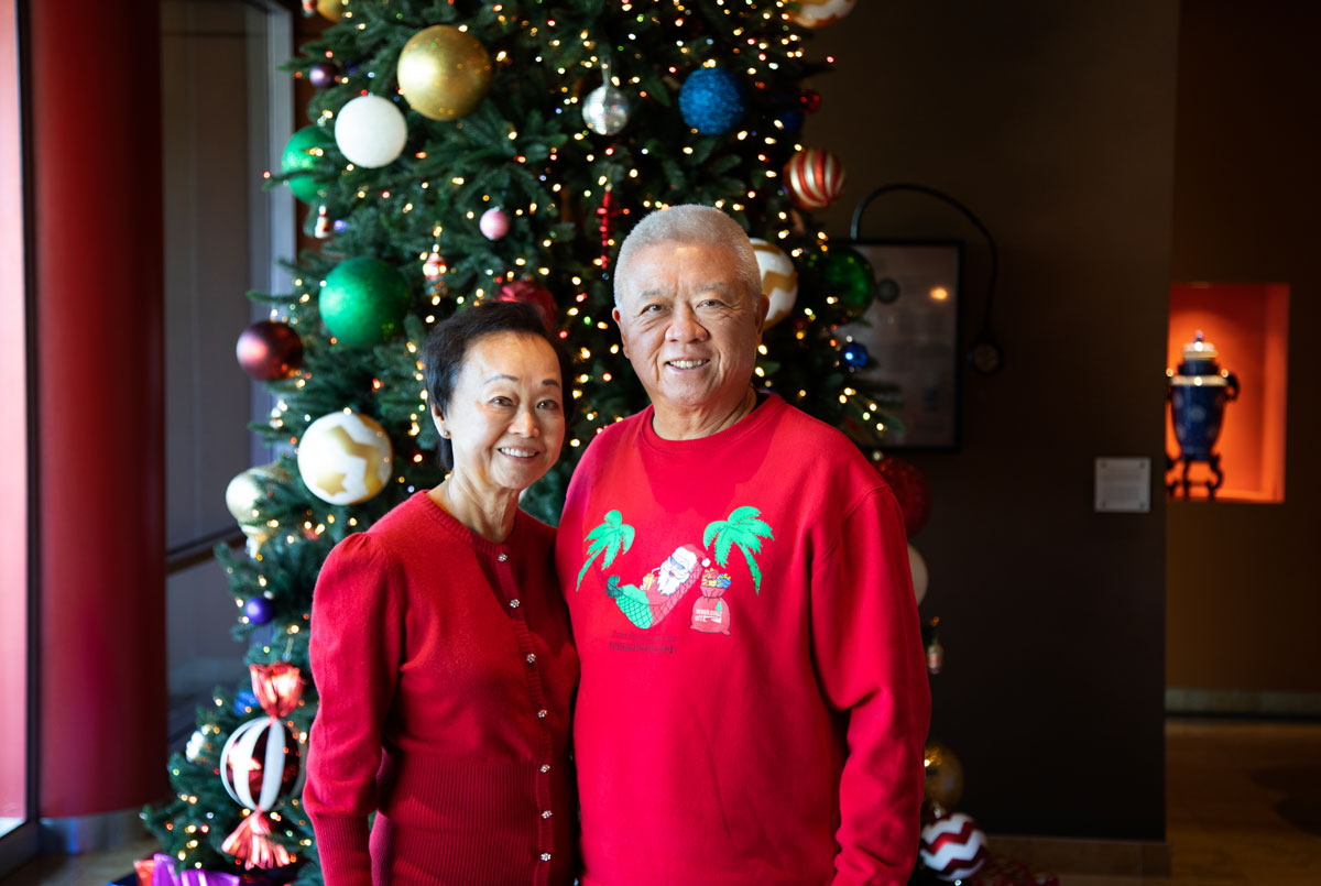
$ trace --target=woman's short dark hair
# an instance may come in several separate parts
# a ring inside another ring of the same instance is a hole
[[[499,333],[532,335],[546,341],[560,364],[560,384],[564,386],[564,424],[573,419],[573,363],[559,339],[546,329],[540,312],[522,301],[487,301],[476,308],[460,310],[432,327],[423,349],[423,371],[427,374],[427,397],[431,411],[444,415],[454,384],[468,359],[468,350],[482,338]],[[454,449],[440,438],[440,460],[445,469],[454,466]]]

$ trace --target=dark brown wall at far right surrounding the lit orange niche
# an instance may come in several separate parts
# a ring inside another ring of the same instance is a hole
[[[1283,504],[1169,508],[1169,684],[1321,692],[1312,652],[1321,396],[1310,371],[1321,329],[1321,7],[1185,0],[1182,9],[1173,280],[1289,284],[1289,391]]]

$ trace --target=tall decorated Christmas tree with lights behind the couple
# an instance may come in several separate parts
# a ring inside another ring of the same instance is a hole
[[[275,401],[252,430],[296,456],[227,494],[248,545],[217,556],[256,693],[217,689],[169,762],[176,798],[144,813],[178,868],[320,882],[297,796],[312,592],[337,541],[443,479],[419,354],[452,312],[528,301],[575,357],[564,456],[523,502],[555,523],[588,441],[646,405],[610,322],[617,244],[653,209],[713,205],[754,238],[771,301],[754,382],[875,446],[888,400],[839,329],[873,275],[814,226],[843,168],[801,132],[828,67],[811,30],[853,1],[304,4],[336,24],[288,65],[317,91],[268,185],[308,205],[320,248],[292,292],[250,293],[271,318],[239,341]]]

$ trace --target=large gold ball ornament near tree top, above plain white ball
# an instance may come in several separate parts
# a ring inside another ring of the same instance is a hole
[[[399,53],[399,91],[417,114],[432,120],[472,112],[490,82],[486,48],[452,25],[419,30]]]

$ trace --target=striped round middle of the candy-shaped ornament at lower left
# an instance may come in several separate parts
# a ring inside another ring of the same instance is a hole
[[[266,812],[280,796],[297,794],[301,772],[299,739],[275,717],[247,721],[221,750],[221,782],[248,809]]]

